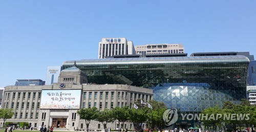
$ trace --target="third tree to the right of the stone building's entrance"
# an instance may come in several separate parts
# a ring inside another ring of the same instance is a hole
[[[129,119],[129,108],[127,106],[125,107],[115,107],[112,109],[114,118],[118,120],[118,125],[120,126],[120,123],[122,124],[122,128],[124,125],[124,122],[126,122]],[[120,127],[119,127],[120,128]]]

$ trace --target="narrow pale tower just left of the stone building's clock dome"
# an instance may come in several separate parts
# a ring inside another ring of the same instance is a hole
[[[57,83],[61,70],[62,70],[61,66],[48,66],[47,73],[46,73],[46,85]]]

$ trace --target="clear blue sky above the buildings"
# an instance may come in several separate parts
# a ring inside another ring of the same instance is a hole
[[[103,37],[256,55],[256,1],[0,1],[0,87],[95,59]]]

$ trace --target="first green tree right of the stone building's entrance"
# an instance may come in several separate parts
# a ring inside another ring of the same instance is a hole
[[[77,111],[77,114],[80,116],[80,119],[84,119],[86,121],[87,131],[89,131],[89,125],[91,120],[97,119],[99,111],[97,107],[92,108],[81,108]]]

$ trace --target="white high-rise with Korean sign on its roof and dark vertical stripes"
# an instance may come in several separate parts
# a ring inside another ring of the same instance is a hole
[[[127,41],[126,38],[102,38],[99,42],[99,59],[135,53],[133,41]]]

